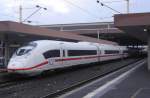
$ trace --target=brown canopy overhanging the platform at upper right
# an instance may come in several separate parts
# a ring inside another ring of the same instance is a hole
[[[147,42],[150,32],[150,13],[118,14],[114,17],[115,27]]]

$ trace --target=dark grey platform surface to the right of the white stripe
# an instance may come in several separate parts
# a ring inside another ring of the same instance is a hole
[[[147,63],[100,98],[150,98],[150,71]]]

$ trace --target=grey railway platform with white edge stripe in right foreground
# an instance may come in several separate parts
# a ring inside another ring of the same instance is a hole
[[[150,98],[147,60],[68,92],[60,98]]]

